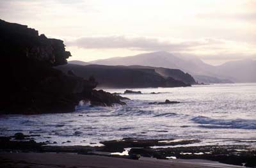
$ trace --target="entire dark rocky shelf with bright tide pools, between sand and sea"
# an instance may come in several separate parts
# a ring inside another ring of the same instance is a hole
[[[1,152],[77,153],[140,159],[204,159],[224,164],[256,167],[256,149],[246,145],[196,146],[198,139],[132,139],[100,142],[103,146],[56,146],[50,142],[35,142],[33,136],[15,134],[0,137]],[[18,140],[21,139],[21,140]],[[189,146],[185,147],[184,145]],[[193,145],[195,144],[195,145]],[[178,147],[176,147],[178,146]]]

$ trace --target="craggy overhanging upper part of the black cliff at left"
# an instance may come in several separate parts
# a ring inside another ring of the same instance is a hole
[[[26,57],[50,65],[67,63],[70,52],[65,51],[63,41],[38,36],[38,31],[20,24],[0,20],[1,51],[9,57]]]

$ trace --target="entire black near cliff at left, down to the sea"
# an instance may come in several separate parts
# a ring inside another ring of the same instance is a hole
[[[93,90],[95,80],[65,75],[70,52],[63,41],[28,26],[0,20],[1,104],[4,113],[72,112],[80,100],[97,105],[124,104],[116,96]]]

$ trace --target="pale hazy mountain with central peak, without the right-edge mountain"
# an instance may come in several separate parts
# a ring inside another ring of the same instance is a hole
[[[209,72],[207,72],[211,74],[210,70],[213,67],[211,65],[207,65],[200,59],[185,59],[180,56],[174,56],[173,54],[165,51],[150,52],[129,57],[99,59],[90,63],[99,65],[142,65],[172,68],[192,73],[193,75],[202,74],[205,70],[209,70]]]

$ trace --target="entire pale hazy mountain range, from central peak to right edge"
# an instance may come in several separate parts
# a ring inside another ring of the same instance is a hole
[[[90,63],[99,65],[141,65],[163,68],[174,68],[196,76],[198,82],[256,82],[255,61],[232,61],[220,66],[204,63],[195,56],[174,56],[169,52],[150,52],[129,57],[99,59]],[[254,76],[253,76],[254,75]]]

